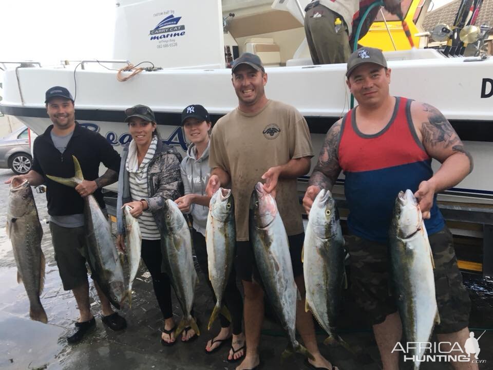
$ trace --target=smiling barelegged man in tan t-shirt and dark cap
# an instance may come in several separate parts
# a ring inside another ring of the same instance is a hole
[[[310,312],[305,312],[305,281],[301,248],[305,238],[296,179],[310,170],[313,156],[305,118],[292,106],[270,100],[264,86],[267,73],[257,55],[244,53],[233,62],[232,82],[238,107],[217,121],[209,153],[212,169],[206,193],[231,186],[235,199],[237,255],[235,268],[244,290],[246,355],[237,370],[259,366],[258,345],[264,307],[263,290],[255,266],[249,235],[250,198],[255,184],[264,180],[264,190],[276,197],[288,234],[295,282],[302,300],[297,301],[296,328],[314,360],[310,368],[332,369],[318,350]],[[254,279],[252,279],[254,278]],[[238,350],[234,347],[233,350]],[[241,354],[242,355],[242,354]],[[240,353],[234,359],[241,358]]]

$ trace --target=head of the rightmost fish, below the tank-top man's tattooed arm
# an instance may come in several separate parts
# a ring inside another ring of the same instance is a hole
[[[392,228],[401,239],[407,239],[423,229],[423,215],[418,200],[409,189],[395,199]]]

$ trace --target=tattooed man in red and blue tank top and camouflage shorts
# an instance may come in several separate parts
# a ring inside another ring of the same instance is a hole
[[[454,350],[446,343],[463,346],[469,338],[470,311],[452,234],[436,194],[462,181],[472,171],[472,158],[437,108],[389,94],[390,73],[381,50],[364,47],[350,55],[347,85],[358,106],[327,133],[303,199],[308,213],[320,190],[332,190],[344,171],[351,290],[373,326],[384,370],[399,368],[399,351],[394,347],[402,337],[396,298],[389,295],[388,272],[388,234],[400,191],[414,192],[425,219],[440,316],[435,332],[444,344],[442,353]],[[434,174],[432,158],[442,163]],[[478,368],[468,362],[453,366]]]

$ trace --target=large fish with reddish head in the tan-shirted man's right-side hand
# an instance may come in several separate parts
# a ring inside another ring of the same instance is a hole
[[[282,358],[293,350],[313,359],[296,340],[296,300],[298,288],[294,281],[286,229],[277,210],[276,200],[266,193],[261,182],[252,194],[250,239],[263,288],[282,326],[288,332],[288,348]]]

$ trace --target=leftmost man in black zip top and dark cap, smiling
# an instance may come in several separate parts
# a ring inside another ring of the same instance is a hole
[[[65,290],[72,290],[80,318],[69,343],[79,342],[96,325],[89,305],[89,284],[85,266],[84,200],[93,194],[104,210],[101,189],[118,180],[120,155],[100,134],[83,128],[75,121],[74,101],[70,91],[54,86],[46,91],[46,112],[53,123],[34,140],[32,170],[13,176],[6,183],[14,185],[25,179],[31,186],[45,183],[50,215],[50,230],[55,259]],[[81,165],[84,181],[75,189],[50,180],[46,175],[69,178],[74,176],[72,156]],[[108,170],[99,176],[103,163]],[[113,330],[126,327],[124,318],[114,312],[96,281],[94,286],[101,301],[102,321]]]

